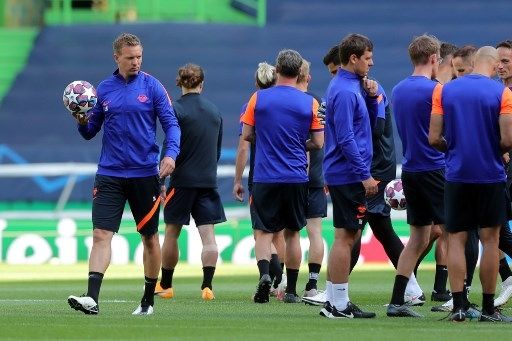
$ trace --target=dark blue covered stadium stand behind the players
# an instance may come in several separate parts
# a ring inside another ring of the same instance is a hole
[[[240,108],[254,91],[253,74],[260,61],[273,62],[282,48],[293,48],[312,61],[311,91],[322,95],[329,75],[321,62],[325,52],[344,35],[359,32],[375,44],[372,76],[388,93],[409,74],[407,44],[428,32],[457,45],[494,45],[507,36],[508,0],[459,1],[466,11],[453,12],[453,3],[433,0],[424,5],[407,0],[375,2],[280,0],[267,3],[267,25],[134,23],[44,27],[24,70],[0,106],[0,163],[89,162],[99,155],[100,139],[84,141],[61,104],[70,81],[98,84],[114,70],[111,42],[129,31],[144,44],[143,69],[159,78],[172,97],[176,70],[186,62],[203,66],[205,96],[224,115],[222,163],[232,164],[238,142]],[[492,11],[486,10],[492,8]],[[39,179],[39,180],[38,180]],[[0,201],[52,200],[66,179],[20,178],[15,188],[1,179]],[[232,178],[220,181],[225,202],[231,201]],[[92,177],[80,177],[72,200],[90,199]]]

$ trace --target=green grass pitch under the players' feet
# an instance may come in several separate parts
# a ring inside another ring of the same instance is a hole
[[[301,269],[300,290],[306,271]],[[68,295],[86,291],[85,264],[0,264],[0,339],[507,340],[512,332],[512,325],[439,321],[447,314],[430,312],[433,303],[429,301],[417,309],[425,318],[388,318],[384,304],[391,295],[394,273],[368,267],[356,268],[349,290],[353,302],[377,313],[371,320],[325,319],[318,315],[319,307],[284,304],[274,298],[269,304],[252,303],[256,266],[227,264],[218,267],[214,301],[201,300],[200,268],[179,264],[174,279],[176,298],[155,297],[154,315],[132,316],[142,295],[141,273],[137,266],[111,266],[103,281],[100,314],[90,316],[72,310],[66,302]],[[324,279],[322,273],[320,288]],[[426,294],[432,280],[431,269],[420,271]],[[475,280],[478,282],[477,275]],[[480,297],[480,287],[475,285],[471,300],[480,305]],[[504,313],[512,314],[512,309],[506,308]]]

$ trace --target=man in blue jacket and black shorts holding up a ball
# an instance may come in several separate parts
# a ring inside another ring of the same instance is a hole
[[[164,87],[140,71],[142,44],[123,33],[114,41],[118,69],[98,86],[98,102],[89,116],[76,116],[78,131],[89,140],[104,127],[93,189],[93,246],[87,294],[69,296],[68,303],[85,314],[98,314],[98,296],[111,257],[126,200],[144,245],[145,289],[133,315],[153,313],[153,293],[160,270],[158,217],[159,179],[172,173],[179,153],[180,128]],[[158,169],[156,121],[165,132],[165,157]]]

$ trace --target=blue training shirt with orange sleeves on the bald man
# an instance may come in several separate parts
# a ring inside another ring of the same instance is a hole
[[[499,117],[512,114],[509,88],[484,75],[466,75],[436,88],[432,113],[443,115],[446,181],[505,182]]]

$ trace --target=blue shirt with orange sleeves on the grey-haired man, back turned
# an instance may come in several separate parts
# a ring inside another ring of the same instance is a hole
[[[318,102],[285,85],[254,93],[241,121],[256,134],[254,183],[304,183],[308,181],[306,140],[323,130]]]

